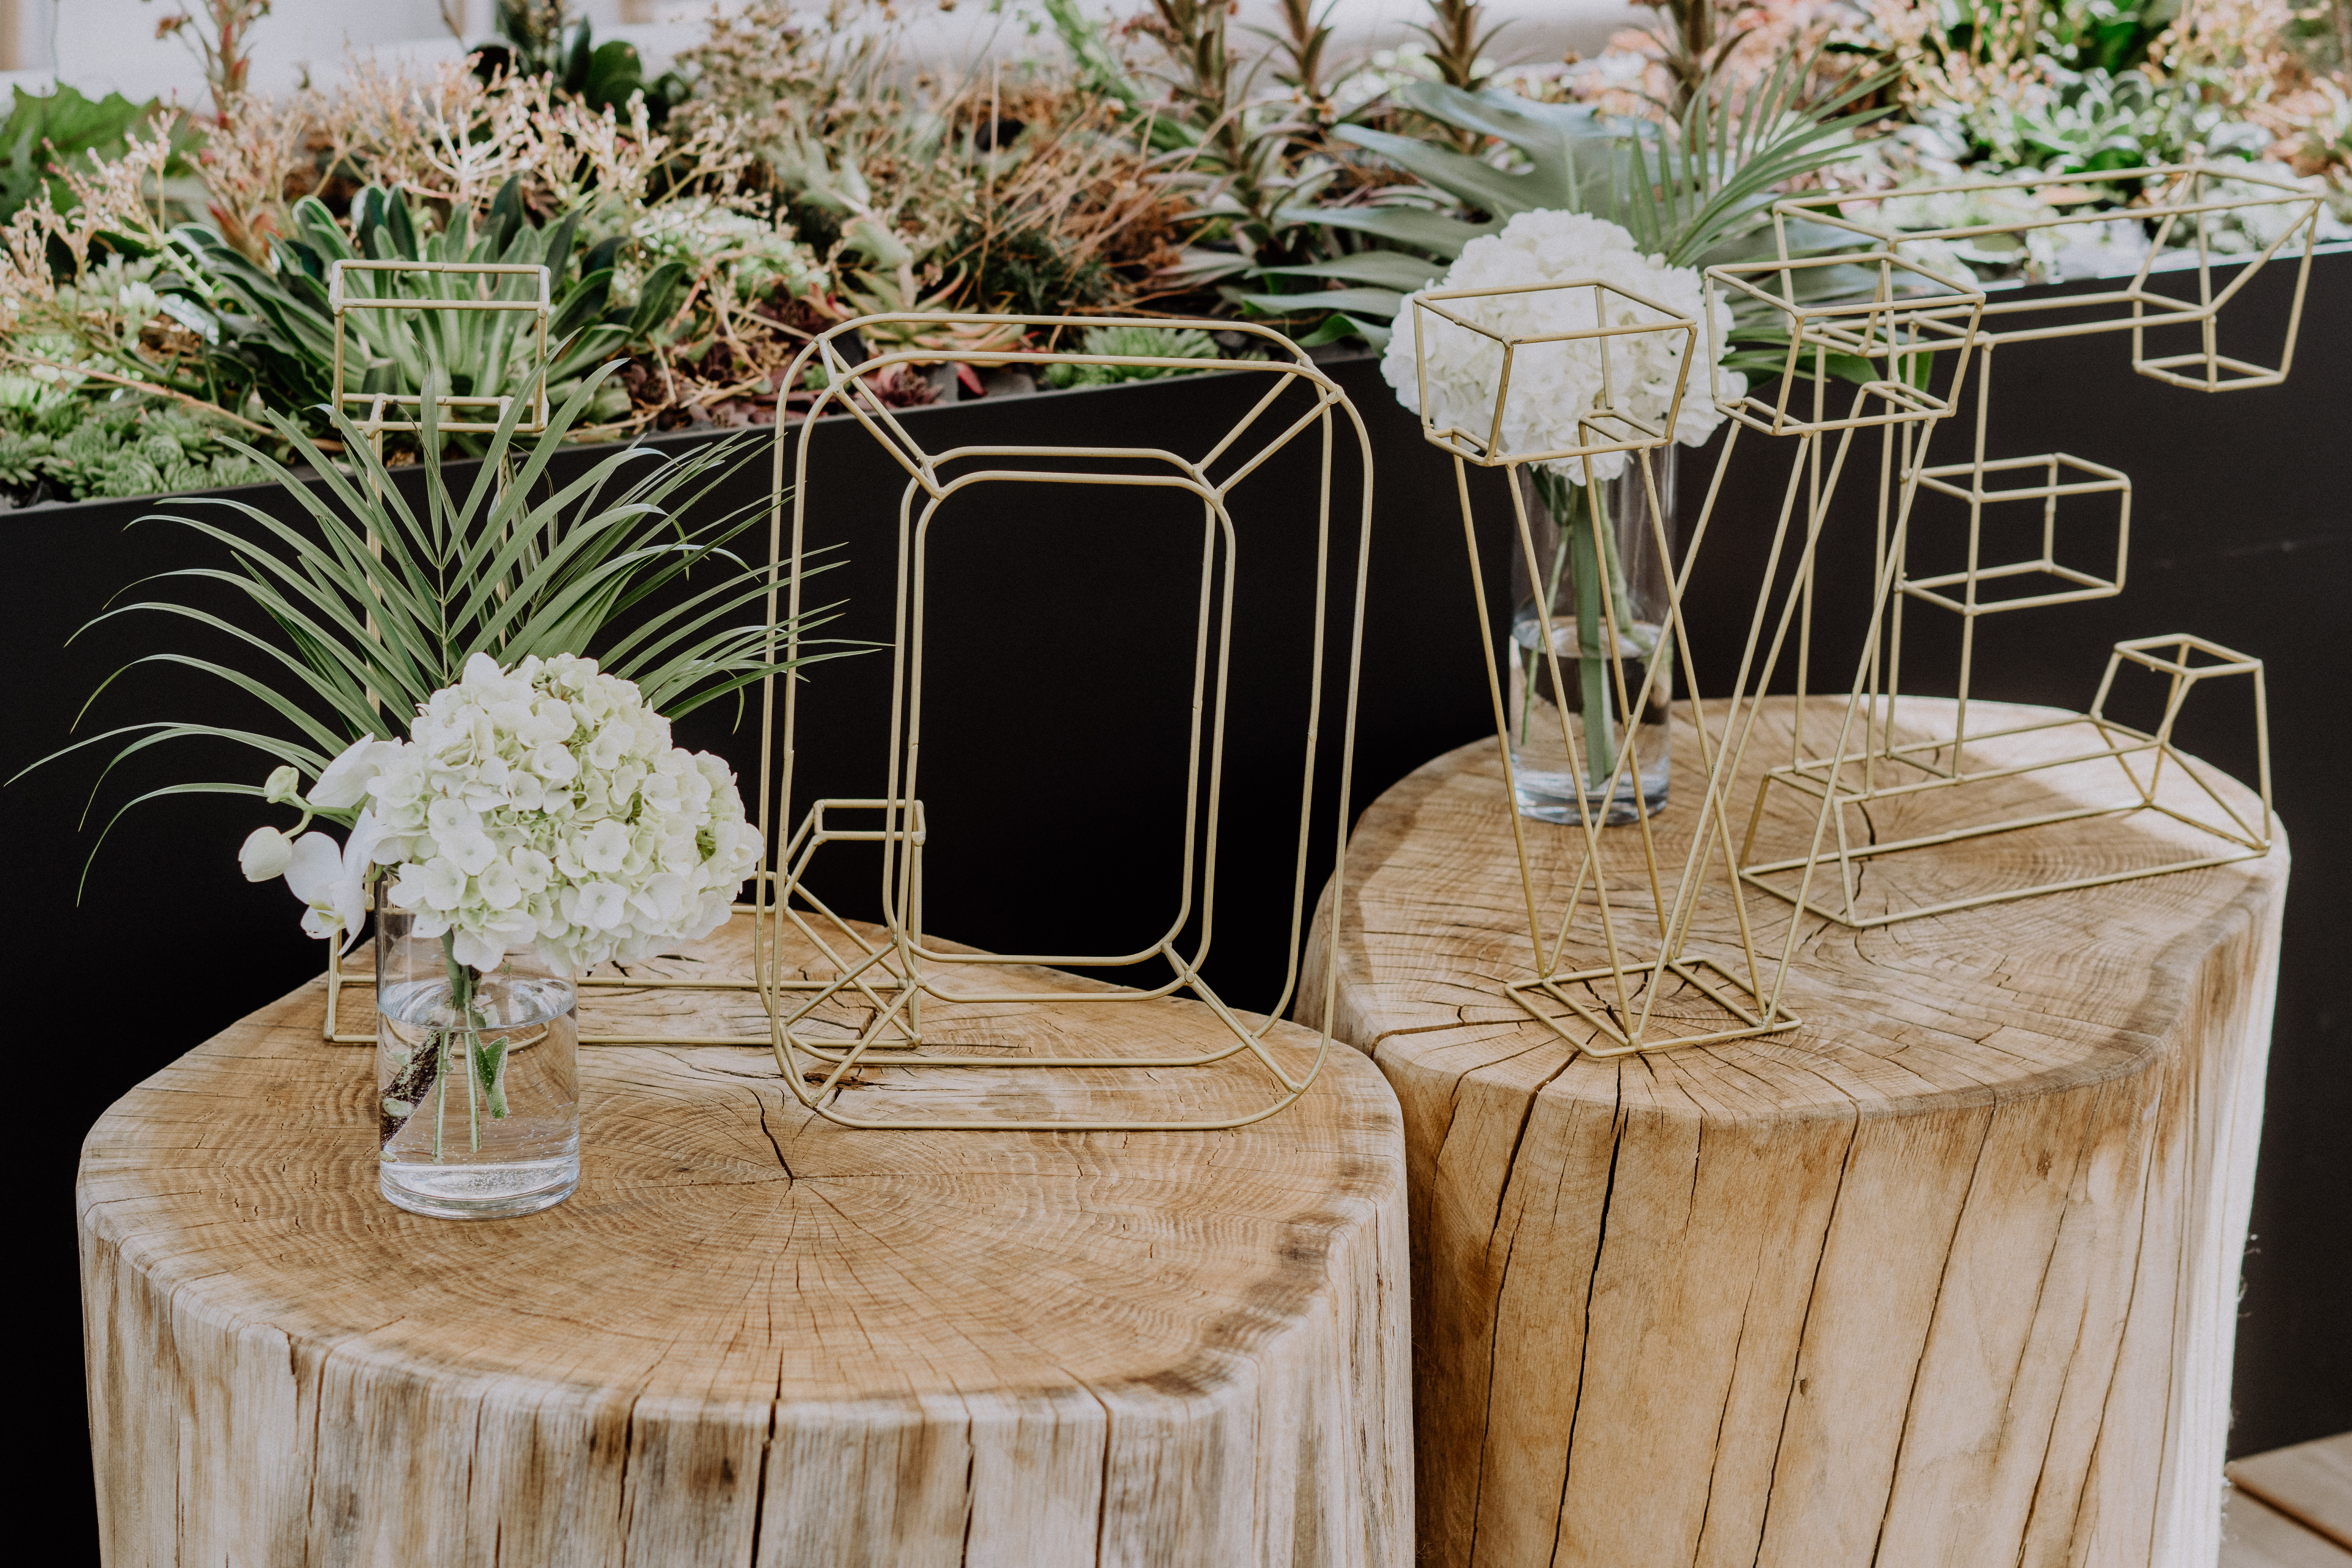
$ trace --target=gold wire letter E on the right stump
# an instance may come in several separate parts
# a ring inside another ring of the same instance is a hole
[[[2147,259],[2143,259],[2138,273],[2122,289],[2100,289],[2089,294],[2070,294],[2058,299],[2032,299],[2032,301],[1992,301],[1985,306],[1985,324],[1976,334],[1978,350],[1978,378],[1976,378],[1976,421],[1973,421],[1973,444],[1971,454],[1962,463],[1926,463],[1926,440],[1931,425],[1917,430],[1917,440],[1903,437],[1900,454],[1896,454],[1893,435],[1889,435],[1889,451],[1882,456],[1879,468],[1879,534],[1875,541],[1875,602],[1870,630],[1865,637],[1865,649],[1860,665],[1853,677],[1849,701],[1844,703],[1844,715],[1837,729],[1837,743],[1825,755],[1806,752],[1806,651],[1811,642],[1811,609],[1813,609],[1813,559],[1804,559],[1799,581],[1790,590],[1804,599],[1804,632],[1799,637],[1797,658],[1797,729],[1790,745],[1790,759],[1766,773],[1757,790],[1755,809],[1748,820],[1748,832],[1740,846],[1740,877],[1773,893],[1780,900],[1795,903],[1799,910],[1825,914],[1844,926],[1872,929],[1884,924],[1896,924],[1903,919],[1917,919],[1922,914],[1938,914],[1945,910],[1964,910],[1985,903],[2002,903],[2011,898],[2032,898],[2037,893],[2051,893],[2077,886],[2100,886],[2107,882],[2131,882],[2138,877],[2154,877],[2173,870],[2194,870],[2204,865],[2223,865],[2230,860],[2246,860],[2270,853],[2270,741],[2267,741],[2267,715],[2263,698],[2260,661],[2244,654],[2220,649],[2197,637],[2173,635],[2157,639],[2138,639],[2117,644],[2107,661],[2107,672],[2100,679],[2098,698],[2091,703],[2089,712],[2063,715],[2056,719],[2037,719],[2030,724],[2013,724],[1994,731],[1971,731],[1969,729],[1969,698],[1973,696],[1973,658],[1976,658],[1976,628],[1978,621],[1994,614],[2039,609],[2056,604],[2074,604],[2084,599],[2114,597],[2124,590],[2129,545],[2131,545],[2131,480],[2114,468],[2093,463],[2063,451],[2046,451],[2032,456],[1987,456],[1987,425],[1992,409],[1992,364],[1994,350],[2004,346],[2037,343],[2049,339],[2070,336],[2093,336],[2093,334],[2129,334],[2131,336],[2131,364],[2138,374],[2161,381],[2166,386],[2180,386],[2204,393],[2232,393],[2246,388],[2277,386],[2286,378],[2293,364],[2296,334],[2303,317],[2303,299],[2310,282],[2312,244],[2317,237],[2319,197],[2300,186],[2279,181],[2272,176],[2246,174],[2237,169],[2218,169],[2213,165],[2166,165],[2150,169],[2119,169],[2103,174],[2079,174],[2079,176],[2053,176],[2053,179],[2011,179],[1994,181],[1990,186],[1933,186],[1924,190],[1905,190],[1903,195],[1947,195],[1959,190],[1983,193],[1983,190],[2011,190],[2030,193],[2034,200],[2049,202],[2051,193],[2065,193],[2067,188],[2079,188],[2086,183],[2110,183],[2110,181],[2159,181],[2152,200],[2145,207],[2131,209],[2136,221],[2154,223],[2154,235],[2150,242]],[[2218,181],[2230,181],[2239,190],[2213,190]],[[2244,188],[2251,188],[2244,190]],[[1792,263],[1790,256],[1790,228],[1797,223],[1818,223],[1828,228],[1842,228],[1884,249],[1910,249],[1917,244],[1950,244],[1985,240],[1994,235],[2027,235],[2037,230],[2065,230],[2086,223],[2112,221],[2105,212],[2074,212],[2072,202],[2046,205],[2046,216],[2009,219],[1994,223],[1969,223],[1938,230],[1896,230],[1886,223],[1865,223],[1860,219],[1846,216],[1842,212],[1842,197],[1837,195],[1811,195],[1785,200],[1776,205],[1776,219],[1780,226],[1780,266],[1806,266]],[[1849,200],[1849,205],[1856,205]],[[2244,261],[2237,277],[2227,284],[2216,287],[2213,282],[2213,223],[2225,216],[2241,214],[2267,214],[2272,219],[2272,237],[2251,256],[2225,259]],[[2185,299],[2178,294],[2166,294],[2152,287],[2150,277],[2154,273],[2154,259],[2183,226],[2194,230],[2194,275],[2197,294]],[[2303,240],[2303,254],[2296,270],[2296,292],[2288,308],[2286,334],[2277,353],[2274,364],[2260,364],[2244,357],[2232,357],[2220,353],[2218,341],[2218,317],[2220,310],[2246,287],[2246,282],[2281,254],[2296,237]],[[1811,266],[1835,266],[1844,261],[1842,256],[1825,256],[1811,261]],[[1766,268],[1771,263],[1764,263]],[[2086,317],[2086,320],[2084,320]],[[2147,334],[2154,329],[2197,329],[2199,348],[2192,353],[2157,355],[2150,353]],[[1955,367],[1950,397],[1962,395],[1962,378],[1966,369],[1966,357]],[[2190,374],[2194,369],[2197,374]],[[2039,473],[2037,473],[2039,470]],[[2006,475],[2027,475],[2025,484],[1999,482]],[[1889,520],[1889,491],[1898,491],[1893,505],[1893,517]],[[1912,571],[1910,555],[1912,543],[1919,536],[1919,522],[1912,515],[1912,503],[1919,491],[1945,496],[1966,505],[1966,531],[1964,531],[1964,564],[1957,571]],[[2060,503],[2084,496],[2114,496],[2114,552],[2112,564],[2105,569],[2084,569],[2060,559]],[[1985,512],[2002,503],[2039,503],[2042,508],[2042,538],[2039,555],[2013,562],[1985,562]],[[2004,590],[2018,585],[2025,578],[2049,578],[2051,588],[2042,592],[2006,592],[1987,595],[1987,588]],[[1769,585],[1766,585],[1769,592]],[[1924,607],[1933,607],[1962,618],[1959,632],[1959,670],[1957,670],[1957,705],[1950,733],[1933,733],[1929,738],[1903,741],[1896,733],[1896,696],[1903,682],[1903,611],[1905,604],[1917,599]],[[2159,644],[2176,644],[2180,649],[2176,661],[2152,663],[2150,649]],[[2190,656],[2201,654],[2216,663],[2190,665]],[[2166,693],[2164,715],[2154,731],[2126,726],[2107,717],[2105,703],[2122,665],[2145,665],[2166,675],[2171,689]],[[2253,722],[2258,738],[2258,771],[2263,776],[2263,823],[2244,823],[2220,797],[2197,776],[2185,759],[2185,755],[2173,748],[2173,719],[2178,717],[2178,703],[2201,682],[2216,675],[2251,675],[2253,696]],[[1971,766],[1969,748],[2013,741],[2032,736],[2037,731],[2060,731],[2070,726],[2084,726],[2089,736],[2082,745],[2063,745],[2060,755],[2046,757],[2042,762],[2023,766]],[[2136,759],[2152,757],[2147,778],[2140,776]],[[1978,823],[1959,830],[1900,837],[1889,842],[1858,842],[1870,835],[1856,835],[1849,830],[1849,813],[1863,811],[1875,802],[1891,802],[1910,795],[1933,792],[1933,790],[1966,790],[1969,785],[1983,785],[1992,780],[2018,778],[2025,773],[2077,766],[2086,762],[2114,762],[2114,780],[2119,795],[2098,806],[2067,806],[2056,811],[2039,811],[2030,816],[2006,816],[2002,820]],[[2157,799],[2157,780],[2161,778],[2164,762],[2180,764],[2180,773],[2194,780],[2201,795],[2220,811],[2213,816],[2192,816],[2171,804]],[[1797,790],[1802,795],[1813,795],[1820,799],[1816,835],[1804,856],[1780,856],[1759,858],[1757,835],[1764,820],[1769,797],[1776,788]],[[1933,905],[1893,907],[1879,914],[1865,914],[1858,905],[1858,867],[1867,860],[1896,856],[1910,849],[1929,849],[1938,844],[1952,844],[1962,839],[1987,837],[1997,832],[2018,832],[2027,827],[2049,827],[2067,820],[2084,818],[2107,818],[2129,816],[2138,811],[2157,811],[2173,818],[2201,835],[2213,839],[2211,853],[2192,853],[2183,858],[2166,860],[2161,865],[2145,865],[2122,872],[2089,875],[2089,877],[2060,877],[2037,886],[1980,893],[1971,898],[1955,898]],[[1830,832],[1835,830],[1835,835]],[[1823,860],[1825,844],[1835,837],[1835,858],[1839,867],[1839,889],[1835,900],[1816,900],[1811,896],[1813,872]],[[1799,886],[1792,891],[1785,879],[1795,875]]]

